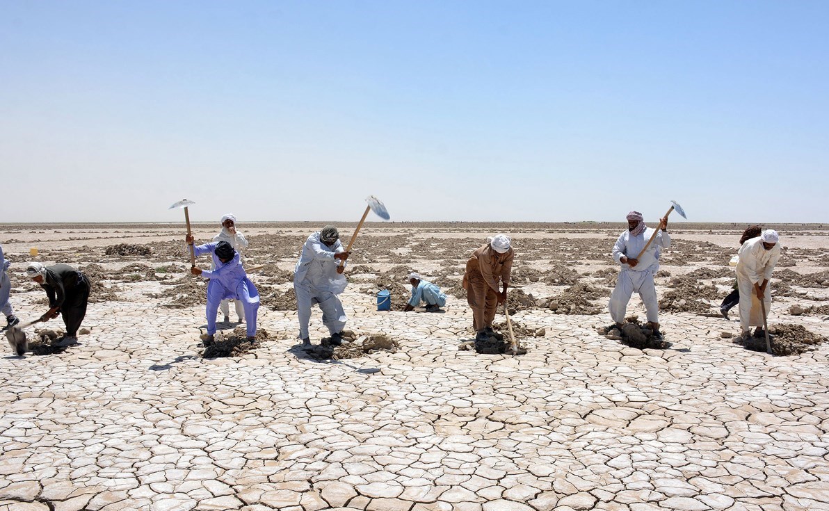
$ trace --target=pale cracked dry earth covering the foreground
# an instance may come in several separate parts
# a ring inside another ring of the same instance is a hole
[[[295,313],[263,306],[272,339],[201,359],[201,306],[163,307],[157,284],[90,305],[79,346],[0,359],[0,510],[829,509],[827,345],[772,357],[668,312],[671,348],[635,350],[599,335],[604,312],[530,308],[527,354],[480,355],[458,351],[463,301],[378,313],[352,284],[347,328],[397,353],[308,359]],[[12,293],[22,321],[40,298]],[[791,303],[771,317],[829,334]]]

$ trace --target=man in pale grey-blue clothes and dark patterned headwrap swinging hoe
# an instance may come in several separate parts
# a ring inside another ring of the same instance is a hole
[[[308,322],[311,321],[311,307],[318,304],[322,309],[322,325],[331,333],[331,344],[342,344],[342,329],[346,325],[346,311],[337,296],[346,290],[348,281],[342,275],[344,266],[338,267],[339,260],[345,261],[348,253],[342,248],[340,233],[333,225],[308,236],[302,253],[293,271],[293,292],[297,295],[297,317],[299,339],[303,349],[311,346],[308,337]]]

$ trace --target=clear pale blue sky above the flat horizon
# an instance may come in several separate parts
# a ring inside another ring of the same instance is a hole
[[[829,2],[0,0],[0,221],[827,222]],[[677,217],[678,219],[678,217]]]

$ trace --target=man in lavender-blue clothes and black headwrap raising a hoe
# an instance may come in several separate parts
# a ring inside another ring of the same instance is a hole
[[[193,244],[193,236],[187,234],[187,243]],[[202,270],[195,266],[190,269],[193,275],[209,278],[207,283],[207,338],[205,346],[213,343],[216,335],[216,313],[222,300],[233,299],[241,302],[245,308],[247,323],[247,337],[251,342],[256,341],[256,314],[259,311],[259,292],[250,282],[245,268],[242,267],[240,255],[230,243],[226,241],[211,242],[193,248],[196,257],[202,253],[210,253],[216,269]]]

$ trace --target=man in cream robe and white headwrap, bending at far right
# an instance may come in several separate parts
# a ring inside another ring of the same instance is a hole
[[[772,277],[774,265],[780,258],[780,237],[772,229],[763,231],[759,238],[746,240],[739,248],[737,263],[737,287],[739,288],[739,325],[743,336],[751,335],[751,327],[756,326],[754,335],[763,335],[764,301],[766,314],[772,305],[771,289],[768,281]]]

